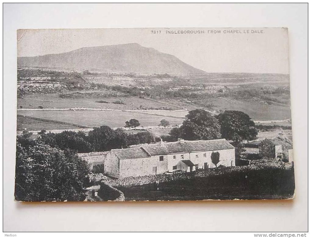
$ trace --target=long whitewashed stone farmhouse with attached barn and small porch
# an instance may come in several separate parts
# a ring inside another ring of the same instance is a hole
[[[157,175],[176,170],[213,168],[212,152],[219,165],[235,166],[234,147],[225,139],[160,142],[136,148],[113,149],[102,157],[104,174],[116,178]]]

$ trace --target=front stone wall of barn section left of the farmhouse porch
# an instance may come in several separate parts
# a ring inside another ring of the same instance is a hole
[[[120,160],[120,178],[162,174],[167,170],[167,155],[163,155],[163,161],[160,156]]]

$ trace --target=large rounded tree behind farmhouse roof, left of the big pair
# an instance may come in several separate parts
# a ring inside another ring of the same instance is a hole
[[[203,109],[189,111],[180,131],[180,136],[186,140],[212,140],[221,137],[218,120]]]

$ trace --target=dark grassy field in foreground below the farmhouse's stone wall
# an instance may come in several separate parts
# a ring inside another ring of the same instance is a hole
[[[268,169],[166,181],[158,191],[153,184],[117,189],[127,201],[285,199],[293,196],[295,180],[293,170]]]

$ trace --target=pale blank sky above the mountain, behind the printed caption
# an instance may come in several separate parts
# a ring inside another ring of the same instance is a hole
[[[161,30],[152,34],[151,30]],[[200,30],[202,34],[167,34]],[[219,30],[220,33],[208,33]],[[238,32],[232,33],[231,30]],[[247,33],[247,30],[249,33]],[[262,33],[252,33],[252,30]],[[227,33],[229,31],[229,33]],[[239,33],[241,32],[241,33]],[[285,28],[28,29],[17,31],[17,55],[37,56],[81,47],[138,43],[172,54],[206,72],[289,73]]]

